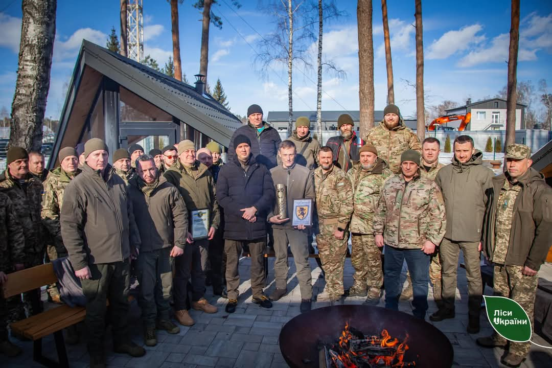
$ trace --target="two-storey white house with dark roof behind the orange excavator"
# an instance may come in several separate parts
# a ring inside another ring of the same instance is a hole
[[[525,108],[527,105],[516,104],[516,130],[533,129],[525,126]],[[447,115],[465,115],[471,113],[471,121],[465,130],[506,130],[506,100],[491,98],[471,102],[471,98],[464,106],[445,110]],[[458,128],[460,121],[448,122],[447,126]]]

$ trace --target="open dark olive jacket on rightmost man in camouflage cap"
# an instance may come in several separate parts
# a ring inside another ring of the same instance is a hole
[[[487,190],[483,250],[491,262],[498,195],[507,175],[493,178],[492,188]],[[543,174],[533,168],[529,168],[518,182],[521,190],[514,203],[506,265],[528,266],[538,271],[552,244],[552,189],[545,183]]]

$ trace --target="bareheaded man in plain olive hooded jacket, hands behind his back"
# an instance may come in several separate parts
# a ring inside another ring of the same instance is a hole
[[[435,182],[443,193],[447,210],[447,232],[439,247],[442,266],[442,306],[429,319],[454,318],[458,256],[464,255],[468,278],[468,332],[479,332],[482,284],[480,267],[481,233],[493,172],[482,165],[483,154],[470,136],[454,140],[453,162],[437,173]]]

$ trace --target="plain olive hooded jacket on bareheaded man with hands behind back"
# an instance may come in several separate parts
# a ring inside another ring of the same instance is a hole
[[[475,151],[464,164],[453,162],[437,173],[435,182],[443,193],[447,211],[445,238],[456,242],[479,242],[483,228],[483,215],[487,196],[494,176],[491,169],[482,165],[483,154]]]

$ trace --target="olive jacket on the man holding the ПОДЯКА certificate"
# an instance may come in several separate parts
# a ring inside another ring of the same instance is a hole
[[[199,161],[195,161],[192,169],[195,177],[188,174],[183,164],[178,160],[169,167],[163,176],[167,182],[176,186],[188,211],[209,209],[210,226],[219,228],[219,204],[215,195],[215,180],[209,169]]]

